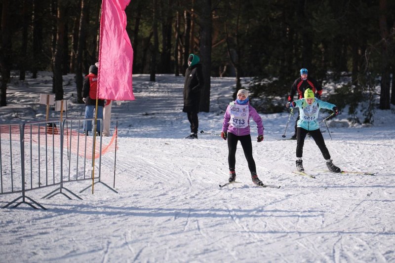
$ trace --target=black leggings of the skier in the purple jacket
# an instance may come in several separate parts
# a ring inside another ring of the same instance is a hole
[[[254,158],[252,157],[252,143],[251,135],[237,136],[233,133],[228,132],[228,164],[229,170],[235,169],[236,166],[236,149],[237,142],[240,141],[241,147],[243,148],[245,158],[247,159],[248,168],[251,173],[256,173],[256,166]]]

